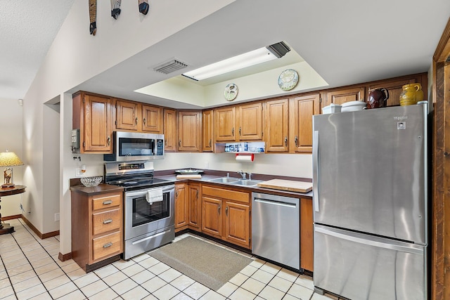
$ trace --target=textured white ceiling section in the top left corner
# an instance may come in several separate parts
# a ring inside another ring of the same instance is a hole
[[[0,0],[0,98],[25,96],[73,1]]]

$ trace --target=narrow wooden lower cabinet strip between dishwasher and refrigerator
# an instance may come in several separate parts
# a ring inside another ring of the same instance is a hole
[[[314,271],[312,200],[300,198],[300,268]]]

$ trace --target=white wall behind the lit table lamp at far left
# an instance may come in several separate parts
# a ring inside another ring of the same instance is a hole
[[[13,181],[15,184],[23,184],[23,171],[27,162],[23,157],[23,107],[17,99],[0,99],[0,152],[8,149],[15,152],[23,161],[24,166],[13,167]],[[0,182],[3,184],[4,168],[0,168]],[[1,216],[15,216],[22,214],[19,204],[22,202],[23,194],[11,195],[1,198]]]

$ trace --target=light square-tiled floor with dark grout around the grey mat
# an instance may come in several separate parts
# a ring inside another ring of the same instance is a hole
[[[217,292],[153,258],[151,252],[86,274],[72,259],[58,259],[59,237],[41,240],[21,219],[8,223],[15,233],[0,235],[0,299],[338,299],[314,293],[310,277],[255,257]]]

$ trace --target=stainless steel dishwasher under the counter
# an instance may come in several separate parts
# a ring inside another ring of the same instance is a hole
[[[300,199],[252,193],[252,253],[300,270]]]

